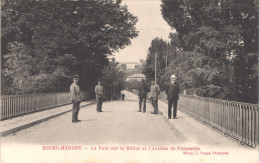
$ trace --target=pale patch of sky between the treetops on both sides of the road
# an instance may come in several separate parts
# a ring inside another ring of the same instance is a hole
[[[169,33],[174,32],[163,19],[161,0],[122,0],[128,11],[138,17],[136,24],[139,35],[131,40],[131,45],[114,53],[121,63],[139,62],[146,59],[148,48],[156,37],[169,41]]]

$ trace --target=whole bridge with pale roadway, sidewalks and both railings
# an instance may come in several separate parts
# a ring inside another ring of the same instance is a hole
[[[75,149],[79,158],[93,157],[92,161],[118,154],[121,161],[258,160],[258,105],[181,95],[177,119],[167,119],[164,93],[158,115],[150,114],[149,102],[146,113],[137,112],[135,92],[124,94],[125,101],[106,101],[103,112],[97,113],[95,101],[83,93],[86,101],[81,103],[80,123],[71,123],[68,93],[2,96],[2,158],[11,162],[26,159],[29,149],[37,151],[41,161],[50,161],[57,157],[54,153]],[[120,148],[124,152],[113,151]],[[143,154],[136,155],[140,150]],[[97,151],[105,154],[103,158]]]

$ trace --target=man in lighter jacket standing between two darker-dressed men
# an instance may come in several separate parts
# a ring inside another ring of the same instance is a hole
[[[150,87],[150,97],[153,105],[154,111],[152,114],[158,113],[158,96],[160,94],[160,87],[158,84],[155,84],[154,80],[151,80],[151,87]]]

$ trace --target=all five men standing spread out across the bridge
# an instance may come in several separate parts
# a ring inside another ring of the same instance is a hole
[[[141,108],[143,105],[143,113],[146,112],[146,98],[147,93],[150,92],[150,98],[152,102],[152,106],[154,108],[154,111],[152,114],[158,114],[158,96],[160,94],[160,87],[158,84],[155,83],[154,80],[151,80],[151,87],[150,90],[145,84],[145,80],[141,80],[141,85],[139,87],[139,110],[138,112],[141,112]],[[77,123],[80,122],[78,119],[78,113],[79,113],[79,107],[81,102],[81,91],[79,87],[79,76],[75,75],[73,77],[73,83],[70,86],[70,93],[71,93],[71,99],[73,103],[72,107],[72,122]],[[168,100],[168,119],[171,119],[172,116],[172,106],[173,106],[173,118],[176,119],[177,117],[177,103],[179,99],[179,93],[180,88],[179,85],[176,82],[176,76],[171,76],[171,82],[168,84],[165,88],[165,92],[167,94],[167,100]],[[101,84],[101,81],[98,81],[98,84],[95,87],[95,93],[96,93],[96,102],[97,102],[97,112],[102,112],[102,103],[104,98],[104,87]]]

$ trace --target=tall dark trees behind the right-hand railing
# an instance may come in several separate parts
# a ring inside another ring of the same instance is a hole
[[[258,103],[259,2],[257,0],[162,0],[161,12],[176,33],[155,38],[143,73],[158,84],[172,73],[187,93]]]

